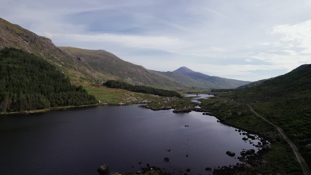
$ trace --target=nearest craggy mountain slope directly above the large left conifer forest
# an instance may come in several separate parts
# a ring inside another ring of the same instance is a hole
[[[72,81],[90,81],[105,76],[94,72],[90,65],[65,50],[56,47],[49,38],[0,18],[0,50],[4,47],[23,49],[36,54],[58,67]]]

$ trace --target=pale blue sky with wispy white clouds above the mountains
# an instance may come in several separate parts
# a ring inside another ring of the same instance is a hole
[[[1,0],[0,17],[151,70],[257,81],[311,64],[310,0]]]

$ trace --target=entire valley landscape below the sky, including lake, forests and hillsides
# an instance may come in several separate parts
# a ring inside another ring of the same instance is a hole
[[[161,72],[2,18],[0,51],[0,174],[310,174],[310,64],[256,82]]]

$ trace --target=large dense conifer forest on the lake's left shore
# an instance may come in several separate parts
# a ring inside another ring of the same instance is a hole
[[[95,104],[82,86],[43,58],[15,48],[0,52],[0,111],[39,110]]]

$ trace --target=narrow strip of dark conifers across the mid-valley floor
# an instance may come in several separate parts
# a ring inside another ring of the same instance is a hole
[[[132,85],[129,83],[119,82],[119,81],[115,81],[115,80],[108,80],[108,81],[104,82],[103,85],[110,87],[110,88],[125,89],[125,90],[132,91],[132,92],[154,94],[154,95],[164,96],[164,97],[182,98],[182,96],[175,91],[158,89],[158,88],[149,87],[149,86]]]

